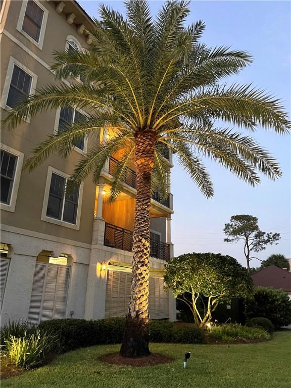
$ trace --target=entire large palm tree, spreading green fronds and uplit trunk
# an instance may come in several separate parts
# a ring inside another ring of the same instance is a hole
[[[75,167],[70,187],[91,172],[98,183],[106,160],[125,149],[114,173],[111,199],[119,194],[127,166],[136,166],[136,207],[133,231],[132,285],[126,319],[123,357],[149,351],[148,300],[151,190],[167,196],[168,171],[162,147],[176,154],[177,162],[203,194],[213,196],[210,176],[201,157],[212,158],[251,185],[260,182],[258,171],[275,179],[281,175],[275,159],[249,136],[215,121],[254,131],[261,126],[284,134],[290,123],[280,101],[251,85],[221,80],[252,62],[244,51],[208,48],[199,42],[202,21],[184,26],[189,2],[167,1],[152,19],[143,0],[125,2],[126,19],[100,6],[94,20],[92,45],[85,52],[57,52],[52,70],[60,80],[82,77],[84,83],[59,82],[37,91],[6,119],[16,127],[24,115],[74,106],[88,113],[65,132],[39,144],[26,168],[31,171],[51,153],[65,157],[84,135],[111,127],[113,136],[96,143]]]

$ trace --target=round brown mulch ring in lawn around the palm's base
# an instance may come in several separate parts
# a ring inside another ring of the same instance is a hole
[[[140,358],[123,358],[119,353],[107,354],[100,357],[100,360],[108,364],[127,365],[127,366],[153,366],[158,364],[167,364],[174,361],[173,358],[163,356],[162,354],[152,353],[150,356]]]

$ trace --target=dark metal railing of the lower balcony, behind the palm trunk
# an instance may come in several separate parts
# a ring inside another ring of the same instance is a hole
[[[105,224],[104,245],[132,252],[132,232],[116,225]],[[151,257],[169,261],[170,251],[168,244],[151,239]]]

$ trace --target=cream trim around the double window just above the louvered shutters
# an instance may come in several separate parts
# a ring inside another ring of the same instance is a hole
[[[83,199],[83,188],[84,183],[82,182],[80,184],[79,188],[79,198],[78,198],[78,208],[77,208],[77,218],[76,223],[71,224],[70,222],[58,220],[56,218],[52,218],[46,215],[47,210],[47,203],[49,202],[49,195],[50,195],[50,186],[51,186],[51,180],[52,180],[52,174],[53,172],[57,175],[62,176],[65,179],[68,179],[70,175],[66,174],[63,171],[57,170],[56,168],[49,166],[47,169],[47,177],[46,177],[46,183],[45,183],[45,190],[44,190],[44,197],[43,197],[43,205],[42,205],[42,212],[41,212],[41,221],[51,222],[52,224],[65,226],[66,228],[70,229],[80,229],[80,220],[81,220],[81,208],[82,208],[82,199]]]

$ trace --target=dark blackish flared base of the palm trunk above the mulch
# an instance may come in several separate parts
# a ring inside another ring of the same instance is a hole
[[[149,319],[126,316],[123,342],[119,355],[126,358],[149,356]]]

